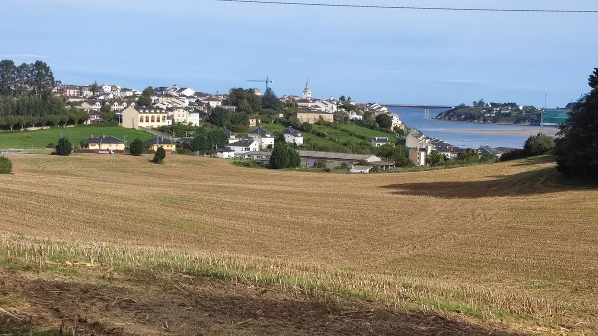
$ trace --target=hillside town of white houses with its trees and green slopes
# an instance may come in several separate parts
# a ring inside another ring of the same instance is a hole
[[[163,148],[167,154],[211,155],[254,166],[353,173],[486,163],[513,149],[459,148],[428,138],[379,103],[316,98],[309,80],[300,96],[278,97],[268,86],[264,92],[231,88],[214,94],[176,84],[142,91],[96,82],[62,84],[41,61],[16,66],[2,60],[0,71],[10,74],[0,83],[0,129],[9,131],[0,132],[4,149],[54,148],[68,135],[74,151],[118,153],[129,152],[140,139],[147,152]],[[36,85],[28,85],[28,78]],[[14,136],[15,130],[25,133]],[[274,150],[277,135],[298,160],[271,164],[282,152]]]

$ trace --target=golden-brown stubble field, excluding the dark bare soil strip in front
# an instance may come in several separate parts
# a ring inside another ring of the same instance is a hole
[[[60,257],[214,272],[504,331],[598,328],[598,190],[560,184],[549,158],[368,176],[182,156],[11,159],[0,231],[20,236],[4,238],[5,264],[33,267],[41,251],[38,269]]]

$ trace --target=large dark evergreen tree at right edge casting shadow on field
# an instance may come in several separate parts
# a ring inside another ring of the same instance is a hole
[[[598,68],[588,78],[590,93],[573,106],[560,126],[557,169],[568,177],[598,180]]]

